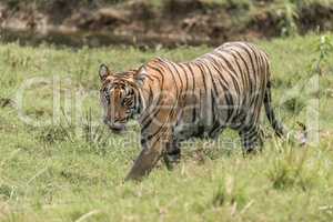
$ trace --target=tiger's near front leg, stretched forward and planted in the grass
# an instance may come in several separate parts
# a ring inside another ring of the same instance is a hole
[[[143,176],[148,175],[160,158],[167,152],[169,141],[168,133],[163,133],[160,137],[157,135],[149,142],[143,140],[143,149],[127,175],[125,181],[141,180]]]

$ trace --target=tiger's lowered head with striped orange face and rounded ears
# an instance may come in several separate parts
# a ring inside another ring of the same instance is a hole
[[[143,84],[145,68],[112,73],[105,64],[100,65],[102,82],[100,99],[103,107],[103,122],[113,131],[125,130],[125,123],[142,110],[140,87]]]

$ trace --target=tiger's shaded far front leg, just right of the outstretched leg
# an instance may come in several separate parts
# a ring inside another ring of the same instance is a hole
[[[168,170],[172,170],[174,165],[180,162],[180,159],[181,159],[180,143],[176,141],[169,142],[167,145],[167,152],[163,155],[163,160]]]

